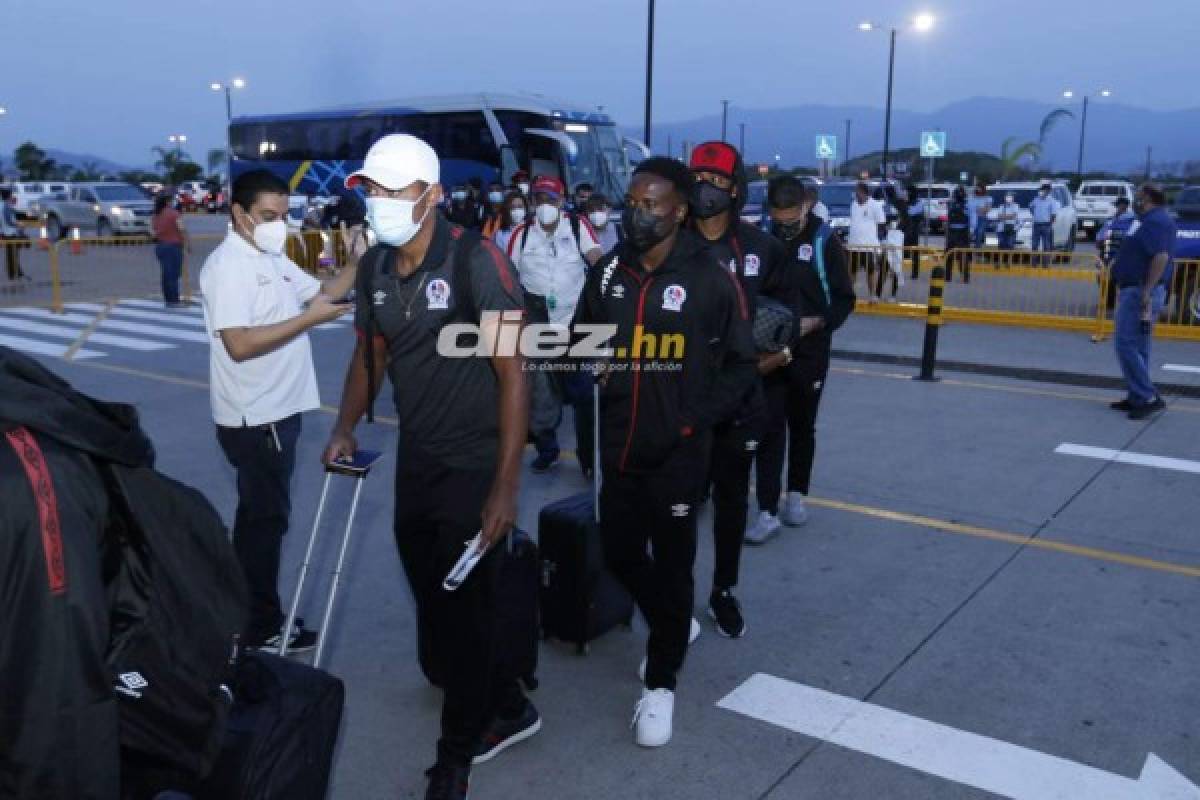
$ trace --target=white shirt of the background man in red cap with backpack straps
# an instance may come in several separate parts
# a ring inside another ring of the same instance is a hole
[[[580,241],[576,243],[571,231],[571,221],[564,211],[558,217],[558,225],[551,233],[534,219],[512,231],[509,240],[509,258],[517,267],[521,285],[527,291],[546,297],[550,309],[550,321],[556,325],[570,325],[575,317],[575,306],[580,301],[583,282],[587,279],[588,263],[583,253],[599,247],[592,223],[580,217]],[[529,234],[526,235],[526,229]],[[524,247],[522,248],[522,240]]]

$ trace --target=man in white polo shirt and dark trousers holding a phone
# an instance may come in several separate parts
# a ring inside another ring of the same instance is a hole
[[[251,591],[247,646],[280,646],[280,551],[292,511],[300,415],[320,407],[307,330],[353,311],[336,303],[354,285],[349,267],[322,284],[283,254],[288,185],[258,169],[233,184],[233,230],[204,261],[204,324],[217,441],[238,474],[233,545]],[[305,307],[307,303],[307,307]],[[316,634],[298,625],[293,650]]]

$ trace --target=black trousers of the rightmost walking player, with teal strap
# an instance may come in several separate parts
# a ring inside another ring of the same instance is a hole
[[[817,409],[829,372],[829,342],[798,348],[794,361],[763,381],[767,422],[758,446],[758,507],[779,512],[787,451],[787,491],[809,493],[816,451]]]

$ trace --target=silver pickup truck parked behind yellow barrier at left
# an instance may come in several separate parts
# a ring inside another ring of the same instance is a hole
[[[76,184],[70,191],[44,201],[42,218],[52,240],[62,239],[72,228],[101,237],[150,233],[154,201],[133,184]]]

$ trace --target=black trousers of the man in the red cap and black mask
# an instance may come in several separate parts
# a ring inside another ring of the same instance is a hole
[[[742,540],[750,507],[750,468],[758,450],[761,421],[726,422],[713,432],[713,591],[738,585]]]

